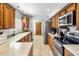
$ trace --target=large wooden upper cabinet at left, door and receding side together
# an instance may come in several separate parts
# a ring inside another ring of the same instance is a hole
[[[15,10],[9,5],[4,4],[4,28],[14,28],[15,26]]]

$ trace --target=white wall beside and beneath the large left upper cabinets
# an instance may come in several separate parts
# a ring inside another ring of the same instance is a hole
[[[15,28],[13,29],[2,29],[0,31],[3,31],[4,34],[11,35],[13,31],[15,33],[22,32],[22,25],[21,25],[21,19],[22,19],[22,14],[19,11],[15,11]]]

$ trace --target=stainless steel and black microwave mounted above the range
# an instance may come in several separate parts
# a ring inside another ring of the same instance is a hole
[[[59,17],[59,25],[60,26],[76,25],[76,12],[72,11]]]

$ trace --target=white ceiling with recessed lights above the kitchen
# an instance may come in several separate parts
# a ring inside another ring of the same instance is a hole
[[[10,3],[25,15],[51,16],[64,7],[67,3]],[[19,8],[17,8],[19,6]]]

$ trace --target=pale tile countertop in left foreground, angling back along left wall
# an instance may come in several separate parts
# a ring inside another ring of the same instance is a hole
[[[28,56],[32,48],[32,42],[17,42],[30,32],[20,33],[8,38],[6,43],[0,44],[0,56]]]

